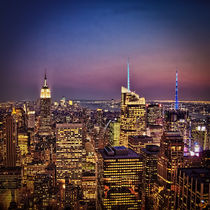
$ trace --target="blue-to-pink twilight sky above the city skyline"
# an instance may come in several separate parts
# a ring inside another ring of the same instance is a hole
[[[210,100],[207,0],[0,2],[0,101],[36,100],[47,69],[53,100]]]

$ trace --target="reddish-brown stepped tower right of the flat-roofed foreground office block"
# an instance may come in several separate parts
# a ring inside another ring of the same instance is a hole
[[[165,131],[160,142],[158,157],[158,182],[164,187],[163,205],[175,208],[177,170],[183,166],[183,137],[176,131]]]

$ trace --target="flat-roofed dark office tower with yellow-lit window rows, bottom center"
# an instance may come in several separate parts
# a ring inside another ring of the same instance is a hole
[[[142,156],[123,146],[99,150],[99,202],[102,209],[140,209]]]

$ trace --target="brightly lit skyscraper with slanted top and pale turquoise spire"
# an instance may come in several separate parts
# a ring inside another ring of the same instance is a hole
[[[120,141],[122,146],[128,146],[128,136],[143,135],[146,132],[145,98],[130,90],[130,69],[127,63],[128,87],[121,87],[121,117]]]

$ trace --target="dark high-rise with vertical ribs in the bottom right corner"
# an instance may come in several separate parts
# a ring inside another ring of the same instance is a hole
[[[182,168],[177,180],[177,209],[210,209],[210,169]]]

